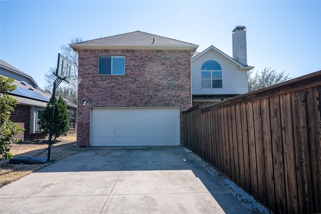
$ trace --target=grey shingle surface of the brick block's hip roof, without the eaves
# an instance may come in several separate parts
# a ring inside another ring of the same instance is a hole
[[[80,45],[101,45],[101,46],[108,46],[108,45],[119,45],[119,46],[145,46],[145,45],[184,45],[184,46],[195,46],[195,44],[187,43],[175,39],[170,39],[166,37],[161,37],[153,34],[144,33],[141,31],[135,31],[126,34],[120,34],[111,37],[105,37],[95,40],[89,40],[80,43],[74,43]]]

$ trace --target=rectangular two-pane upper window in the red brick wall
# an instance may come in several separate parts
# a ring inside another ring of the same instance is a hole
[[[99,75],[125,75],[125,56],[98,56]]]

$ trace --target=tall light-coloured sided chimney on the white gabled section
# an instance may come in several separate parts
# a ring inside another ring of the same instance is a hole
[[[233,59],[247,66],[246,27],[236,26],[232,32]]]

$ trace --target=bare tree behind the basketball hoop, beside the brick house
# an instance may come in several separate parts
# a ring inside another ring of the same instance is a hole
[[[70,43],[79,43],[82,42],[81,38],[74,38],[70,40]],[[80,77],[78,77],[78,54],[73,51],[73,49],[68,45],[60,46],[61,54],[71,62],[71,74],[69,77],[70,84],[65,83],[64,81],[57,87],[56,96],[61,96],[73,103],[77,103],[77,93],[78,93],[78,83]],[[52,93],[53,83],[56,80],[56,67],[50,67],[47,73],[45,74],[45,91]]]

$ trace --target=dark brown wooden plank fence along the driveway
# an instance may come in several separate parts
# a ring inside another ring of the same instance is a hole
[[[321,212],[321,71],[183,112],[184,143],[275,213]]]

